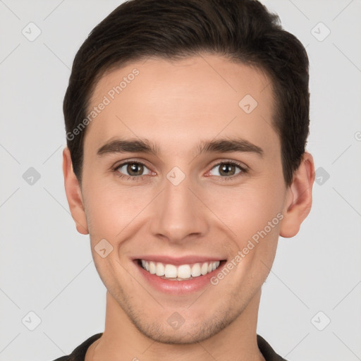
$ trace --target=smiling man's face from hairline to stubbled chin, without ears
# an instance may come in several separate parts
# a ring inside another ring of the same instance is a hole
[[[259,295],[289,205],[267,76],[148,59],[104,75],[91,104],[81,195],[109,296],[156,341],[217,334]]]

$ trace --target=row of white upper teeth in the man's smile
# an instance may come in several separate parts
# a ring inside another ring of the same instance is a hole
[[[157,276],[165,276],[167,279],[189,279],[214,271],[219,267],[219,261],[203,262],[195,264],[181,264],[175,266],[174,264],[163,264],[161,262],[145,261],[142,259],[142,267],[149,271],[150,274],[157,274]]]

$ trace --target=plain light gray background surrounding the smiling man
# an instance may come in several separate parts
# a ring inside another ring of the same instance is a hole
[[[257,333],[288,360],[361,360],[361,1],[263,2],[310,56],[318,183],[300,233],[279,240]],[[62,101],[75,52],[118,4],[0,0],[1,361],[53,360],[104,330],[105,288],[63,189]]]

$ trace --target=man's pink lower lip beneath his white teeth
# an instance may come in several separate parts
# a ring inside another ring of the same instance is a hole
[[[210,279],[218,274],[219,271],[224,267],[224,264],[226,264],[226,261],[221,261],[219,267],[214,269],[214,271],[209,272],[209,274],[205,274],[204,276],[197,276],[186,281],[172,281],[169,279],[161,279],[161,277],[157,276],[156,274],[150,274],[147,270],[140,266],[137,260],[134,262],[136,267],[140,270],[140,274],[145,277],[147,282],[150,283],[152,287],[163,293],[169,293],[172,295],[185,295],[202,290],[202,288],[211,284]]]

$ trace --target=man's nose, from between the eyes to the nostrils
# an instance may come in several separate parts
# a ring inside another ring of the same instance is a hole
[[[197,192],[197,187],[192,186],[187,177],[178,185],[168,179],[164,183],[164,190],[152,202],[152,234],[170,243],[183,243],[189,237],[202,238],[209,229],[209,222],[201,192]]]

